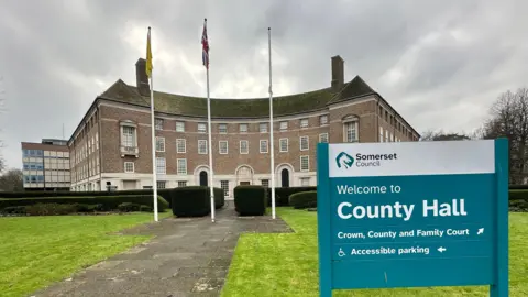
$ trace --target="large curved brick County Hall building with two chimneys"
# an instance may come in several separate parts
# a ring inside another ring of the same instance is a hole
[[[152,187],[150,86],[119,79],[98,96],[68,141],[73,190]],[[361,77],[331,58],[328,88],[275,97],[276,186],[317,184],[318,142],[418,141],[418,132]],[[207,185],[207,99],[154,91],[158,188]],[[270,185],[270,99],[211,99],[216,187]]]

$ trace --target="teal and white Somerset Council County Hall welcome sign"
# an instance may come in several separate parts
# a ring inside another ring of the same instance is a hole
[[[508,296],[507,140],[319,143],[320,295],[490,285]]]

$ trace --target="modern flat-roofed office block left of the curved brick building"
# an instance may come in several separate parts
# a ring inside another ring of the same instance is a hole
[[[66,140],[22,142],[25,190],[69,190],[69,148]]]

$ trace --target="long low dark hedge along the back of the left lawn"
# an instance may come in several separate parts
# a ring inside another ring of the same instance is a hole
[[[0,199],[0,210],[8,207],[32,206],[37,204],[58,204],[58,205],[88,205],[97,206],[100,211],[118,210],[121,204],[138,204],[153,208],[154,201],[148,195],[129,195],[129,196],[108,196],[108,197],[38,197],[38,198],[10,198]],[[87,206],[87,207],[88,207]],[[157,197],[157,210],[165,211],[168,202],[161,196]]]

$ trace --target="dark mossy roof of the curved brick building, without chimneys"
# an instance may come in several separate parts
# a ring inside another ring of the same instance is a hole
[[[356,76],[338,91],[324,88],[274,97],[273,112],[275,116],[309,112],[323,109],[329,103],[372,94],[375,94],[374,90]],[[106,90],[100,98],[150,107],[148,96],[142,96],[136,87],[127,85],[121,79]],[[154,109],[163,113],[207,117],[207,98],[154,91]],[[212,118],[262,118],[266,116],[270,116],[270,98],[211,98]]]

